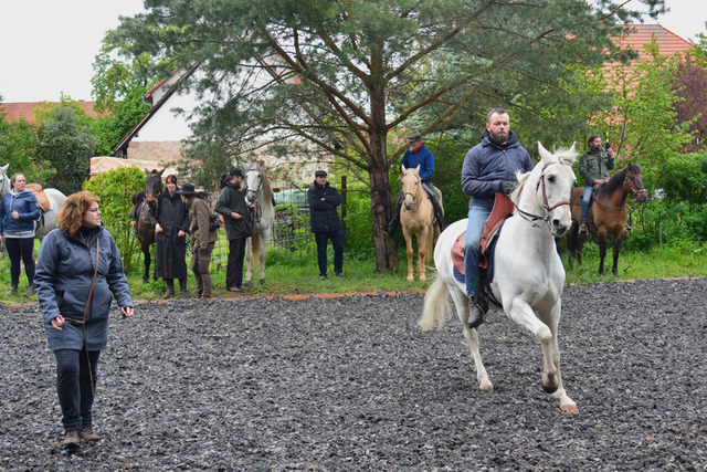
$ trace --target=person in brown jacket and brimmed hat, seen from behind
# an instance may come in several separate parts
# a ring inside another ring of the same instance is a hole
[[[218,230],[210,231],[211,210],[205,201],[197,196],[194,186],[184,183],[181,186],[181,199],[190,210],[191,224],[191,271],[197,279],[197,298],[211,298],[211,251],[219,239]]]

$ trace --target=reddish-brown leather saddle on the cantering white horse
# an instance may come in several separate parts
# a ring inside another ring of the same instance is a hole
[[[496,240],[500,233],[506,218],[510,217],[514,211],[513,200],[505,193],[496,193],[494,208],[484,222],[484,232],[481,241],[481,259],[478,266],[484,270],[484,279],[490,282],[494,279],[494,250]],[[466,231],[456,238],[452,247],[452,263],[454,264],[454,277],[464,282],[464,243],[466,240]]]

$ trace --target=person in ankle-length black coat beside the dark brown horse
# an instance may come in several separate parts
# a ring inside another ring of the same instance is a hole
[[[157,200],[155,224],[155,273],[165,279],[167,292],[162,300],[175,295],[175,279],[179,279],[180,297],[187,298],[187,231],[189,207],[177,192],[177,177],[167,176],[167,187]]]

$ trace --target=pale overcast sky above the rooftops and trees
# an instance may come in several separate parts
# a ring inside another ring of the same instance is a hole
[[[686,40],[707,34],[707,1],[666,0],[666,4],[671,12],[645,22],[657,22]],[[93,99],[92,64],[104,33],[119,24],[119,15],[141,11],[143,0],[2,0],[3,102],[56,102],[62,93],[73,99]]]

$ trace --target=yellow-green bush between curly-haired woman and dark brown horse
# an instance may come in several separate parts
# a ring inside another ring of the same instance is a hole
[[[107,170],[84,182],[84,189],[101,197],[101,221],[115,238],[125,270],[130,271],[141,254],[130,227],[130,197],[145,189],[145,171],[134,166]]]

